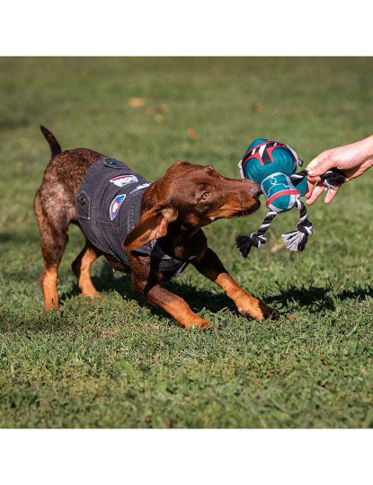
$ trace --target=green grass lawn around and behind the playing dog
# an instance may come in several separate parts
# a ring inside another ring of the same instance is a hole
[[[131,108],[133,96],[146,106]],[[146,110],[160,104],[169,111],[157,121]],[[280,242],[293,211],[248,260],[234,238],[257,229],[264,208],[207,227],[237,281],[281,312],[246,320],[188,268],[168,287],[212,331],[182,331],[102,259],[93,282],[105,300],[77,296],[75,227],[59,271],[63,312],[45,313],[32,210],[49,161],[40,124],[63,148],[101,151],[155,181],[185,159],[238,178],[256,137],[309,161],[368,136],[372,119],[371,58],[0,59],[0,427],[372,428],[373,172],[309,209],[315,234],[302,254]]]

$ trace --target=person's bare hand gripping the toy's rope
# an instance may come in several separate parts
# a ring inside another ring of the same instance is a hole
[[[325,150],[308,163],[306,170],[308,172],[306,191],[306,204],[313,204],[324,191],[324,184],[315,186],[315,182],[320,182],[320,175],[331,168],[337,168],[346,175],[346,181],[351,181],[360,177],[373,165],[373,136],[365,138],[351,145],[338,146],[330,150]],[[327,191],[324,202],[329,204],[335,197],[339,187]]]

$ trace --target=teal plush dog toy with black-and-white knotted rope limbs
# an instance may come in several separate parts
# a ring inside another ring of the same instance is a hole
[[[250,237],[235,238],[238,251],[244,258],[247,258],[253,247],[260,249],[267,242],[264,234],[275,216],[293,207],[299,211],[297,230],[282,234],[282,239],[289,251],[305,250],[308,237],[312,235],[312,224],[308,220],[306,206],[299,200],[307,189],[307,171],[297,173],[297,167],[302,165],[303,161],[289,145],[266,138],[256,139],[245,151],[238,163],[241,177],[261,184],[270,210],[257,233],[252,233]],[[325,190],[335,189],[346,180],[345,175],[337,169],[328,170],[320,178]]]

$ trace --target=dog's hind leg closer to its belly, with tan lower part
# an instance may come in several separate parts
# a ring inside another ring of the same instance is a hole
[[[102,296],[93,287],[93,282],[91,279],[91,267],[93,262],[101,255],[93,245],[86,239],[85,246],[79,255],[76,257],[72,264],[75,277],[78,278],[79,288],[81,290],[81,295],[93,296],[93,298],[101,298]]]

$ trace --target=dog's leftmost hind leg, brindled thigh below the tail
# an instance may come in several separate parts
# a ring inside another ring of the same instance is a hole
[[[39,278],[39,286],[44,296],[44,308],[48,311],[53,307],[59,310],[58,266],[68,241],[69,217],[65,210],[58,211],[56,207],[44,207],[40,190],[36,194],[34,208],[40,228],[41,252],[44,260],[44,268]]]

